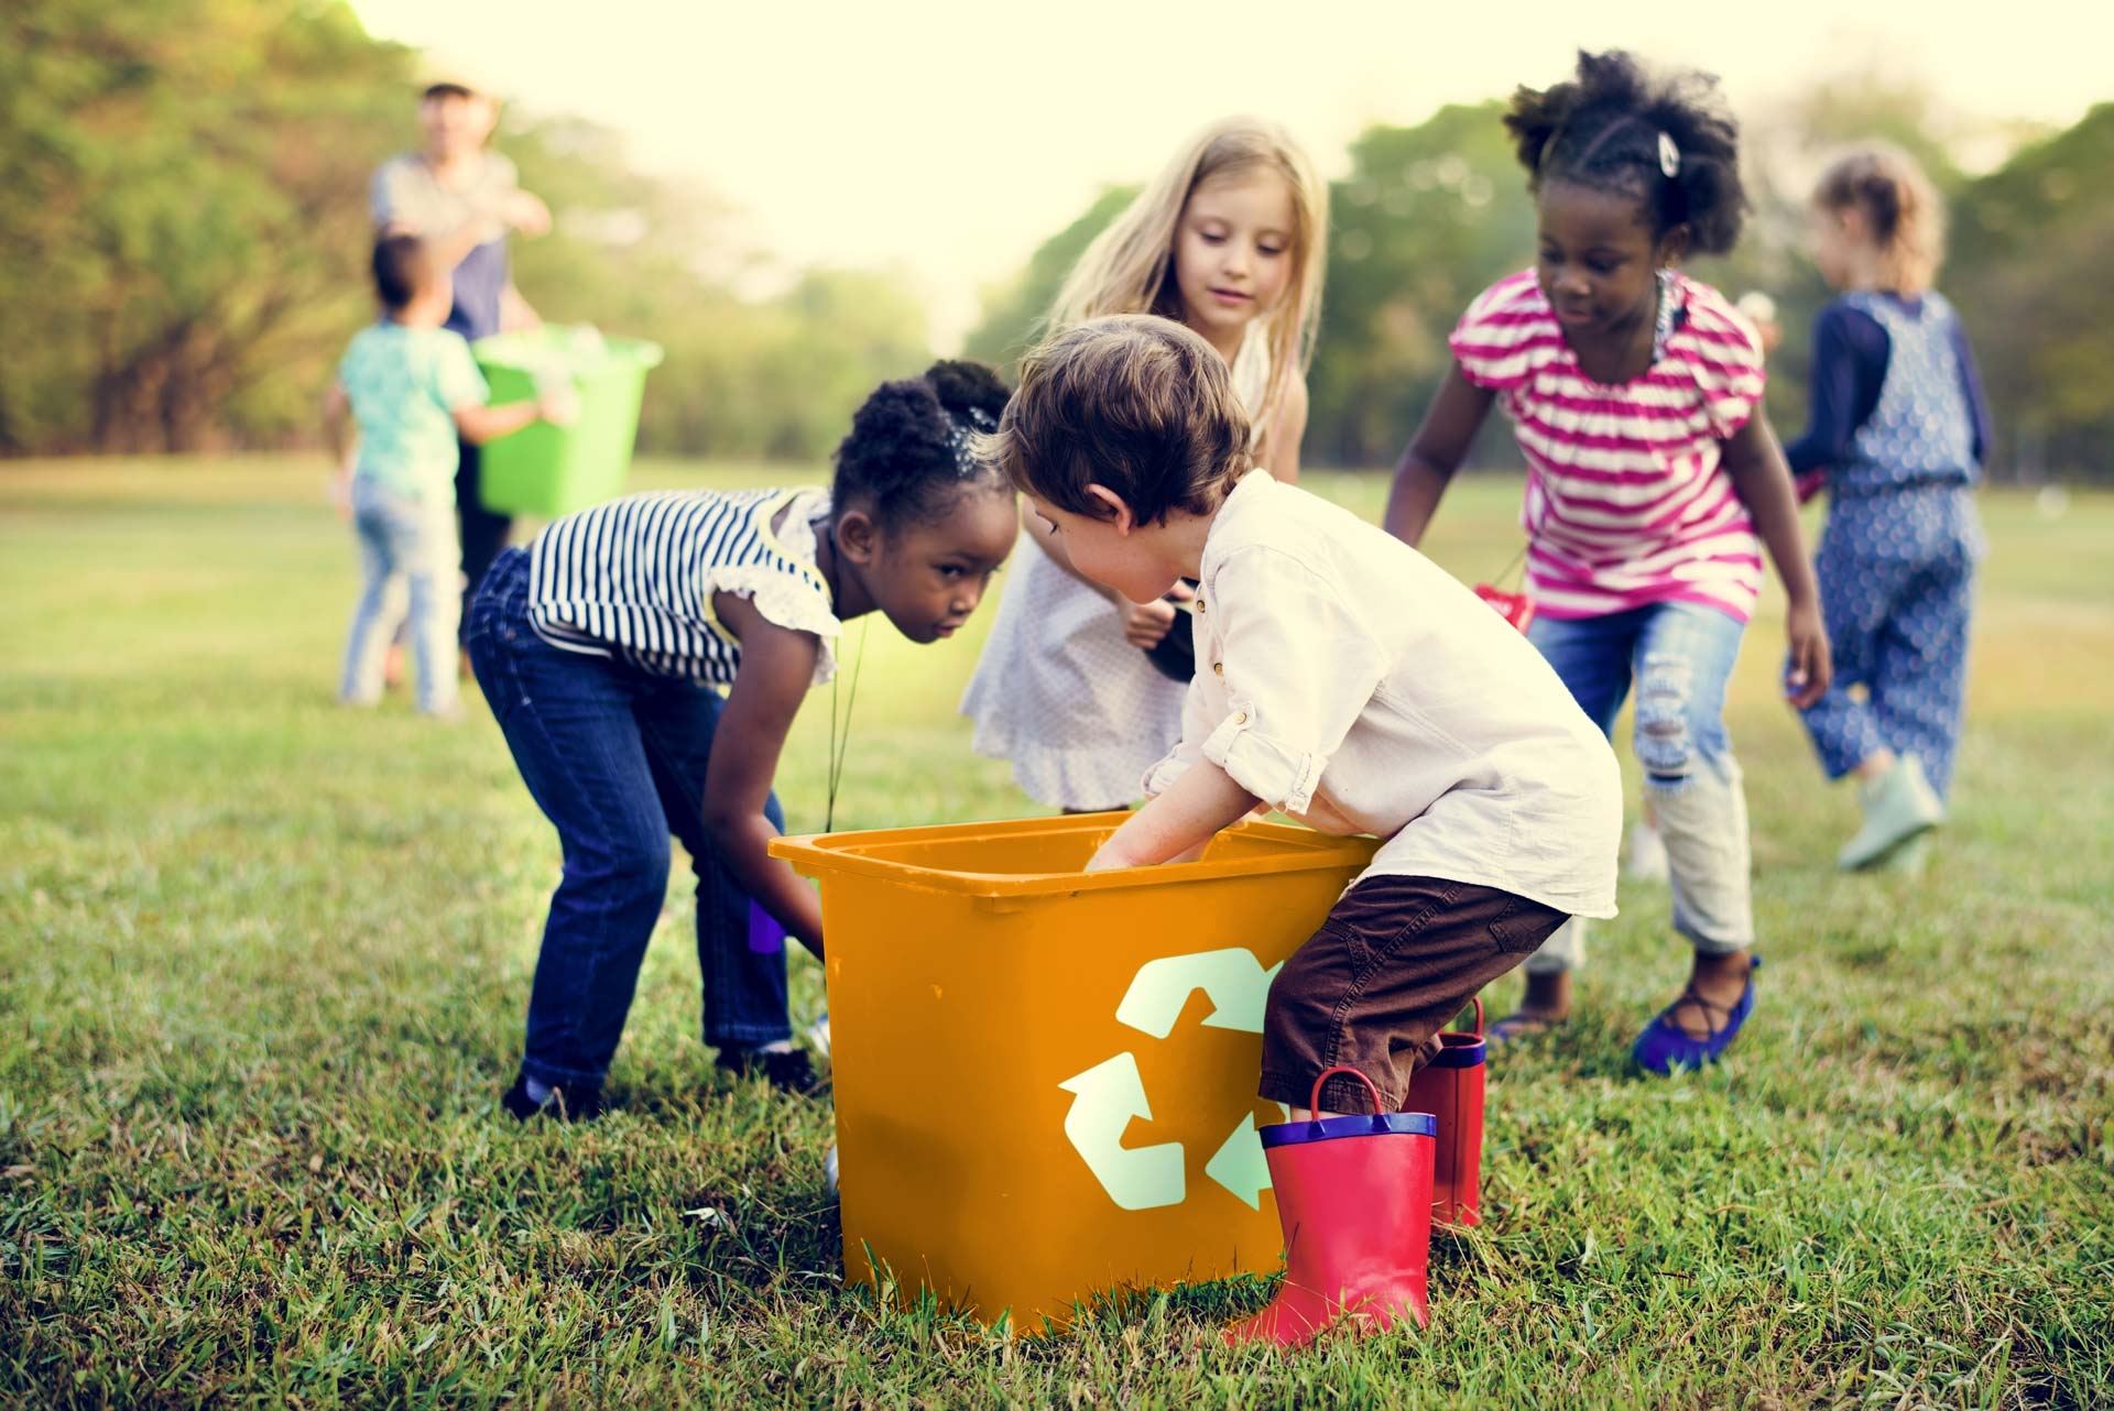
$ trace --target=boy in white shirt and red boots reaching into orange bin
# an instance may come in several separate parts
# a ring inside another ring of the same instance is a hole
[[[1476,991],[1566,917],[1615,915],[1615,756],[1467,587],[1251,469],[1232,378],[1169,319],[1030,355],[994,452],[1080,572],[1133,602],[1199,581],[1182,739],[1091,868],[1192,860],[1258,807],[1383,839],[1271,982],[1260,1094],[1296,1109],[1298,1134],[1266,1139],[1292,1274],[1230,1337],[1300,1343],[1351,1307],[1423,1322],[1431,1143],[1395,1139],[1429,1117],[1395,1109]],[[1317,1155],[1325,1181],[1304,1181]]]

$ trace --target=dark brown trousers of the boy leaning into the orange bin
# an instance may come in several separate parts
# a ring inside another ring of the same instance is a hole
[[[1368,877],[1271,982],[1260,1094],[1306,1107],[1321,1069],[1351,1065],[1399,1109],[1438,1031],[1562,923],[1564,913],[1497,887]],[[1332,1077],[1321,1109],[1366,1113],[1372,1094]]]

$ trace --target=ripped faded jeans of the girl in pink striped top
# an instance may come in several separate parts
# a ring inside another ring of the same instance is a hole
[[[1636,763],[1666,839],[1674,929],[1702,955],[1727,955],[1755,940],[1746,786],[1725,733],[1725,680],[1744,634],[1744,623],[1691,602],[1537,617],[1526,632],[1609,737],[1636,684]],[[1586,921],[1573,917],[1526,957],[1526,972],[1577,970],[1583,961]]]

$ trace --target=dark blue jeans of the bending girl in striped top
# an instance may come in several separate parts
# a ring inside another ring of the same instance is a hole
[[[748,944],[748,893],[704,830],[721,695],[539,638],[528,625],[524,549],[503,551],[478,587],[467,640],[522,782],[564,849],[522,1071],[543,1084],[600,1084],[609,1073],[668,893],[670,834],[698,877],[704,1041],[746,1048],[793,1037],[784,948]],[[776,796],[765,813],[782,826]]]

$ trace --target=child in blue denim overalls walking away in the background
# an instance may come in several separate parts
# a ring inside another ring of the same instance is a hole
[[[1814,188],[1814,220],[1820,272],[1843,296],[1814,323],[1812,427],[1784,450],[1801,490],[1829,486],[1818,570],[1837,672],[1805,729],[1831,779],[1865,784],[1839,864],[1867,868],[1913,860],[1905,845],[1945,822],[1989,412],[1960,319],[1930,287],[1943,209],[1915,163],[1850,152]]]

